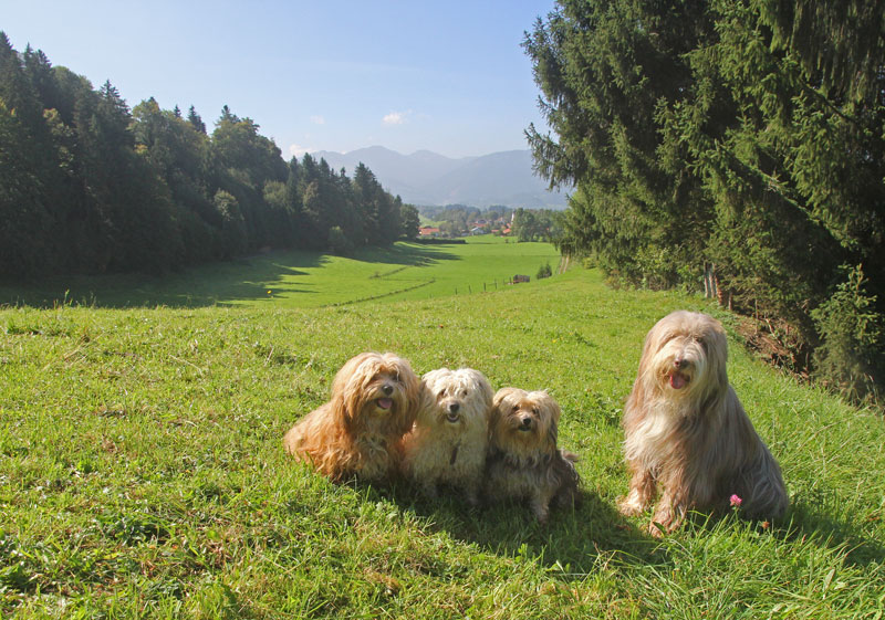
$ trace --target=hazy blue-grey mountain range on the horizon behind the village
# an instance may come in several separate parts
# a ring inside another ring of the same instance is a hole
[[[534,175],[529,150],[504,150],[479,157],[450,158],[429,150],[402,155],[382,146],[350,153],[311,154],[348,175],[362,162],[378,182],[404,202],[416,206],[468,204],[564,209],[565,193],[548,191]]]

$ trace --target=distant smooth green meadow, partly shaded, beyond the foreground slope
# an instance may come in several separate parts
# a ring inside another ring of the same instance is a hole
[[[549,243],[517,243],[491,235],[465,244],[396,243],[365,249],[352,259],[317,252],[272,252],[192,267],[164,277],[139,275],[64,277],[25,286],[0,286],[0,303],[52,306],[278,305],[320,307],[367,300],[416,300],[493,291],[516,274],[534,280],[553,270],[559,254]],[[485,288],[483,288],[485,286]]]

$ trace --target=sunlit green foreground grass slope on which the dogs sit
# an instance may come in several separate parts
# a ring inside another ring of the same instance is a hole
[[[731,381],[791,495],[772,527],[699,516],[657,542],[648,515],[616,513],[642,340],[680,307],[731,334]],[[879,618],[882,418],[762,366],[732,325],[697,297],[580,270],[322,308],[2,309],[0,616]],[[283,432],[365,349],[549,389],[581,506],[542,527],[291,462]]]

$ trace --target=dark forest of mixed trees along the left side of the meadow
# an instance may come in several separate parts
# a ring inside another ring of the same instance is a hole
[[[227,106],[211,135],[194,106],[129,109],[111,82],[96,91],[0,32],[0,275],[162,273],[417,235],[417,209],[366,166],[287,162],[259,128]]]

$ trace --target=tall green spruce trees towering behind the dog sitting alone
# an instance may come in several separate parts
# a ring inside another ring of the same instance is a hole
[[[789,364],[885,383],[885,3],[559,0],[528,32],[537,170],[574,185],[560,249],[706,285]]]

